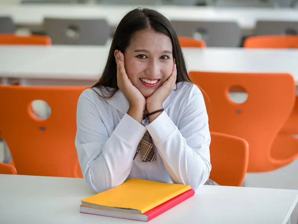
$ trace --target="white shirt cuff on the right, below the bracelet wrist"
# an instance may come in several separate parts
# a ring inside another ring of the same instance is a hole
[[[176,125],[166,112],[159,114],[159,116],[157,116],[152,123],[149,123],[146,128],[156,144],[177,129]]]

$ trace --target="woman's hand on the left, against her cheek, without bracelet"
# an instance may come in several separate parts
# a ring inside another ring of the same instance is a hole
[[[138,122],[143,120],[143,112],[146,107],[146,99],[142,93],[132,84],[124,67],[124,55],[119,51],[117,63],[117,85],[129,102],[128,114]]]

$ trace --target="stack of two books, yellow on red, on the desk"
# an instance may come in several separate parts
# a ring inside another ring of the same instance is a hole
[[[80,213],[147,222],[194,194],[189,185],[130,179],[81,200]]]

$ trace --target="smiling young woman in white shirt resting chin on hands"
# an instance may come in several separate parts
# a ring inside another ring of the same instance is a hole
[[[98,83],[77,105],[75,146],[86,182],[102,192],[130,178],[201,187],[210,132],[167,18],[134,9],[120,21]]]

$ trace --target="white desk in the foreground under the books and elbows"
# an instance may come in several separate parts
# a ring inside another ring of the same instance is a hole
[[[0,175],[0,223],[143,223],[79,213],[94,194],[83,179]],[[203,186],[152,224],[286,224],[298,190]]]

